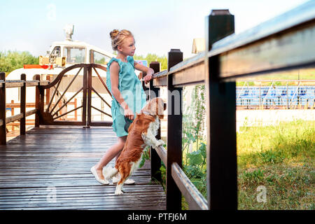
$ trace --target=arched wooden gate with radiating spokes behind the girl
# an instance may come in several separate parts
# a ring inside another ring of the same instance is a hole
[[[79,76],[80,71],[82,71],[82,75]],[[48,85],[42,85],[40,87],[39,92],[39,99],[41,101],[40,105],[40,125],[83,125],[85,127],[90,126],[111,126],[113,123],[110,121],[94,121],[92,120],[92,109],[99,111],[100,113],[103,113],[105,116],[109,116],[111,118],[111,115],[109,113],[106,113],[102,111],[102,109],[97,108],[95,105],[92,104],[92,92],[97,94],[100,100],[104,102],[107,106],[109,106],[109,109],[111,109],[111,102],[106,102],[106,99],[102,97],[102,95],[97,91],[97,87],[93,87],[92,82],[100,82],[102,83],[102,88],[104,89],[104,92],[106,94],[109,94],[110,99],[111,93],[109,92],[109,89],[106,86],[106,83],[104,83],[103,78],[100,76],[100,72],[105,71],[106,67],[100,65],[100,64],[74,64],[73,66],[69,66],[63,71],[59,73],[59,75],[52,80],[51,83]],[[68,72],[74,72],[75,76],[67,76]],[[92,77],[92,72],[96,74],[96,76]],[[66,79],[68,78],[68,79]],[[65,80],[66,87],[64,90],[61,90],[61,95],[57,97],[57,92],[60,88],[60,83]],[[72,90],[72,92],[69,91],[69,88],[71,88],[74,83],[76,83],[76,90]],[[46,97],[45,97],[45,91],[46,91]],[[52,93],[50,97],[47,97],[47,92]],[[68,100],[64,100],[64,102],[61,103],[62,97],[64,95],[70,92],[71,97],[69,97]],[[82,104],[75,105],[75,108],[71,111],[64,111],[61,110],[64,109],[66,105],[71,104],[72,99],[76,99],[75,97],[78,96],[78,94],[82,94]],[[56,99],[55,104],[52,104],[53,100]],[[57,104],[59,105],[59,108],[57,108]],[[44,106],[45,105],[45,106]],[[45,107],[45,109],[44,109]],[[78,109],[82,110],[81,113],[81,120],[58,120],[59,118],[62,118],[66,116],[67,114],[78,111]]]

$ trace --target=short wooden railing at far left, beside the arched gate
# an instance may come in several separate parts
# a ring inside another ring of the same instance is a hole
[[[27,87],[35,86],[36,92],[39,91],[39,87],[46,85],[48,81],[40,80],[40,76],[36,75],[36,80],[26,80],[25,74],[21,74],[21,80],[7,80],[6,74],[0,73],[0,144],[6,144],[6,124],[13,123],[16,120],[20,120],[20,134],[24,135],[26,131],[26,118],[35,114],[35,125],[38,126],[38,108],[39,108],[39,95],[36,94],[34,99],[35,108],[26,111],[26,91]],[[20,87],[20,113],[6,118],[6,88]]]

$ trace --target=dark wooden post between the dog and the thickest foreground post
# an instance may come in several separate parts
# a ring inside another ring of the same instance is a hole
[[[183,52],[179,49],[171,49],[168,56],[168,70],[183,61]],[[181,210],[181,191],[172,178],[172,164],[176,162],[182,167],[183,87],[174,87],[172,77],[167,77],[167,210]]]

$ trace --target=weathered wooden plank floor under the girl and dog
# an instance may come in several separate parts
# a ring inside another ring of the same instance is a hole
[[[90,167],[116,141],[111,127],[51,126],[8,141],[0,146],[0,209],[166,209],[162,186],[151,183],[149,162],[121,196],[112,183],[94,179]]]

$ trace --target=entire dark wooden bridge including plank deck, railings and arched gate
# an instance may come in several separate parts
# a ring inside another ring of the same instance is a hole
[[[158,62],[150,64],[155,70],[154,79],[146,86],[150,96],[158,96],[159,87],[169,90],[167,150],[151,149],[151,163],[134,174],[137,184],[126,186],[128,194],[123,197],[113,197],[114,186],[101,186],[90,174],[90,167],[115,141],[108,127],[110,122],[91,120],[91,110],[99,110],[92,106],[91,94],[97,94],[92,86],[92,71],[99,76],[97,69],[106,68],[76,64],[64,69],[51,83],[39,80],[40,76],[27,81],[23,75],[20,81],[6,82],[1,73],[0,208],[180,210],[183,195],[190,209],[237,209],[235,80],[315,66],[315,52],[310,47],[315,45],[315,2],[304,3],[238,35],[233,34],[234,15],[228,10],[213,10],[206,27],[205,52],[183,62],[183,53],[172,49],[166,71],[160,71]],[[63,106],[58,108],[55,105],[59,101],[52,101],[62,78],[72,69],[83,69],[83,76],[79,76],[83,85],[76,92],[83,94],[77,108],[83,111],[80,121],[60,120],[77,109],[61,113]],[[102,78],[99,80],[102,82]],[[207,200],[181,169],[181,92],[185,85],[200,83],[206,85],[207,91]],[[31,111],[25,111],[27,86],[36,86],[36,109]],[[21,90],[21,113],[10,118],[6,118],[8,87]],[[47,97],[51,87],[55,91]],[[174,92],[179,93],[179,98]],[[25,132],[25,118],[31,114],[36,114],[36,127]],[[6,123],[14,120],[20,120],[21,135],[7,142]],[[166,167],[166,193],[151,181],[161,181],[161,162]]]

